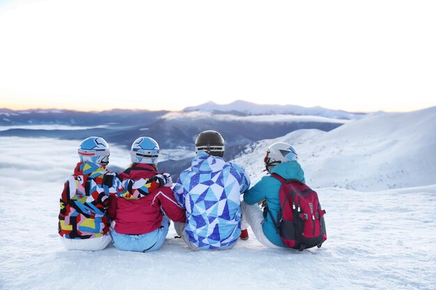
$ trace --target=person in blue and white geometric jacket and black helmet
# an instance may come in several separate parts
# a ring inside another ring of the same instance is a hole
[[[195,142],[192,166],[183,171],[173,188],[186,209],[186,223],[174,227],[192,250],[232,248],[241,233],[241,194],[250,180],[238,164],[226,162],[224,138],[203,131]]]

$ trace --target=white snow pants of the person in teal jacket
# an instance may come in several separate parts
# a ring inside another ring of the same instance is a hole
[[[251,230],[254,232],[254,236],[256,239],[265,247],[274,248],[274,249],[283,249],[278,245],[274,245],[270,240],[267,239],[265,234],[263,234],[262,223],[264,221],[262,209],[258,206],[258,204],[247,204],[244,201],[241,202],[242,207],[242,221],[241,221],[241,229],[247,229],[247,227],[251,227]]]

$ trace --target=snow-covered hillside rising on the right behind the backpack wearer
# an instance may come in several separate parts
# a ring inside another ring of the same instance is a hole
[[[256,181],[267,147],[295,146],[306,180],[315,187],[360,191],[436,184],[436,107],[410,113],[377,113],[329,132],[293,131],[247,148],[235,162]]]

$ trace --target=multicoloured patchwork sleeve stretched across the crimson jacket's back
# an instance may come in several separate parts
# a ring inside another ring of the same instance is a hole
[[[159,188],[159,182],[152,178],[139,180],[121,179],[115,172],[104,175],[103,188],[109,195],[116,195],[126,200],[137,200]]]

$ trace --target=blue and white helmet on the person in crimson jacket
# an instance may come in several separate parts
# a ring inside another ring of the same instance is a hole
[[[134,140],[130,149],[132,163],[157,164],[159,145],[150,137],[139,137]]]

